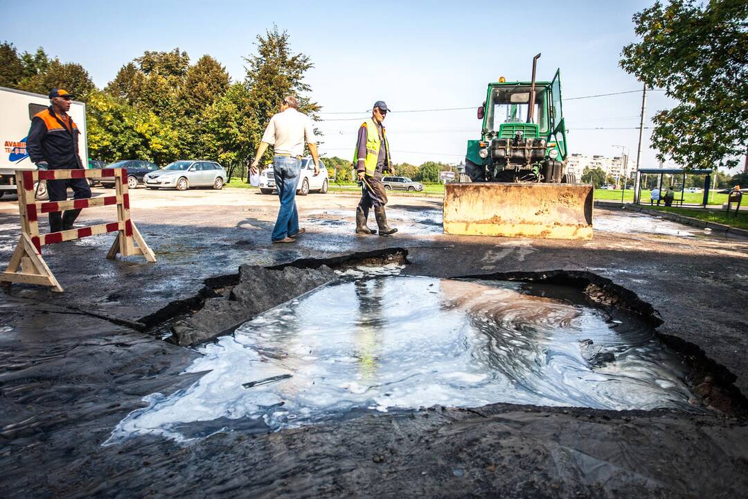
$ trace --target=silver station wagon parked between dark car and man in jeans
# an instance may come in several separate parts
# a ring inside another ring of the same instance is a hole
[[[152,171],[144,177],[148,189],[173,187],[186,191],[190,187],[212,187],[223,189],[227,179],[226,170],[213,161],[182,160]]]

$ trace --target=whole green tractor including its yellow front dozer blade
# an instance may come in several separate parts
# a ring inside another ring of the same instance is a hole
[[[592,186],[565,172],[559,72],[536,82],[539,57],[530,82],[488,84],[481,138],[465,156],[472,182],[444,186],[445,233],[592,239]]]

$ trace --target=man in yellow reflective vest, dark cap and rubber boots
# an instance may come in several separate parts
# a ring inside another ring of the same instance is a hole
[[[387,204],[387,193],[384,192],[384,183],[381,181],[382,174],[389,172],[393,174],[392,161],[390,160],[390,143],[384,133],[384,117],[387,116],[387,104],[378,100],[374,102],[372,117],[361,123],[358,129],[358,143],[353,154],[353,164],[358,172],[358,180],[361,182],[361,201],[356,207],[356,233],[375,234],[376,230],[367,227],[369,209],[374,206],[376,223],[379,226],[380,236],[390,236],[397,229],[387,225],[387,215],[384,205]]]

